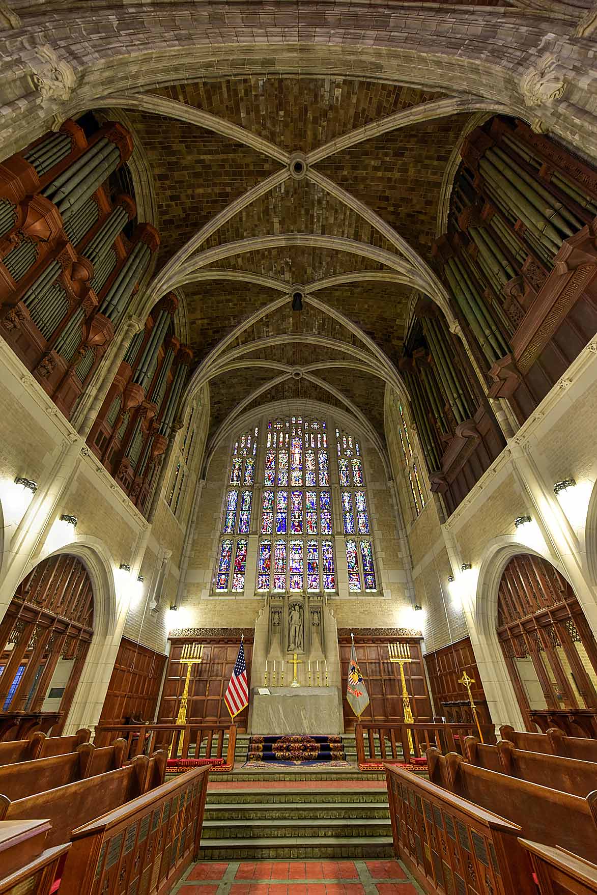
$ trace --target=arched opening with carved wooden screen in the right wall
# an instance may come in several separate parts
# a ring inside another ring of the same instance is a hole
[[[497,631],[527,729],[597,738],[597,644],[575,592],[546,559],[510,559]]]

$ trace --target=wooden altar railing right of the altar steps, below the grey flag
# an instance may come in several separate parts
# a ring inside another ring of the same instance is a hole
[[[482,724],[486,743],[496,742],[492,724]],[[410,734],[410,736],[409,736]],[[422,758],[431,746],[440,752],[465,754],[465,737],[478,736],[475,724],[365,724],[354,725],[359,764]]]

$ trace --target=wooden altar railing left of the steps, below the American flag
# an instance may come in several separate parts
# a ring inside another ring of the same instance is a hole
[[[125,759],[166,749],[171,758],[225,758],[226,764],[235,765],[235,724],[98,725],[94,742],[96,746],[107,746],[117,737],[126,740]]]

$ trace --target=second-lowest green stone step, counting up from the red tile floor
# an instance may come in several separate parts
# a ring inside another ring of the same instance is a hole
[[[221,834],[225,832],[227,839],[263,840],[287,839],[301,840],[321,838],[339,835],[349,839],[369,839],[377,836],[391,836],[389,817],[386,819],[366,818],[357,823],[351,823],[345,818],[296,818],[292,821],[284,821],[284,818],[273,822],[261,821],[203,821],[202,838],[204,840],[221,840]]]

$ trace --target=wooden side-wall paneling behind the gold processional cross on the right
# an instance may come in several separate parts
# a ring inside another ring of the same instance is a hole
[[[474,684],[471,685],[471,693],[474,704],[477,706],[479,720],[482,724],[491,723],[470,637],[463,637],[456,644],[444,646],[435,652],[427,652],[424,658],[429,675],[431,695],[438,715],[443,715],[447,721],[454,723],[474,720],[466,688],[463,684],[458,683],[458,680],[466,672],[469,678],[474,680]]]

